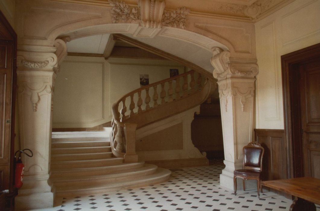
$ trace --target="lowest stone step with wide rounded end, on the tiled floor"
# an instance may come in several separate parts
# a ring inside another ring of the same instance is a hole
[[[151,175],[140,176],[139,178],[132,178],[128,181],[120,181],[115,183],[100,183],[96,185],[79,183],[76,186],[57,187],[56,197],[64,196],[81,196],[90,194],[97,194],[110,191],[119,191],[132,188],[138,188],[164,182],[169,179],[171,171],[165,168],[157,168],[156,172]]]

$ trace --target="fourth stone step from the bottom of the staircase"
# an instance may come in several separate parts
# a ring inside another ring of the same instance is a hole
[[[123,158],[107,158],[100,160],[67,160],[67,161],[53,161],[51,162],[51,169],[72,169],[72,168],[88,168],[88,167],[102,167],[112,166],[123,163]]]

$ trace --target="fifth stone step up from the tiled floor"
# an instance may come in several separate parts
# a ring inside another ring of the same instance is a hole
[[[51,163],[55,161],[68,161],[68,160],[100,160],[112,157],[112,152],[99,152],[99,153],[81,153],[81,154],[60,154],[51,155]]]

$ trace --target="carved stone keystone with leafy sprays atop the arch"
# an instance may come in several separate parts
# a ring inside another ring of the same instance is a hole
[[[142,27],[161,28],[170,26],[185,29],[185,21],[190,10],[180,7],[174,11],[165,11],[164,0],[138,0],[138,7],[131,7],[124,1],[108,0],[112,6],[113,23],[140,23]]]

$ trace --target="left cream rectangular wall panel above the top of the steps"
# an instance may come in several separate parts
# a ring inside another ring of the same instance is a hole
[[[56,79],[53,127],[93,127],[107,121],[104,58],[67,57]]]

